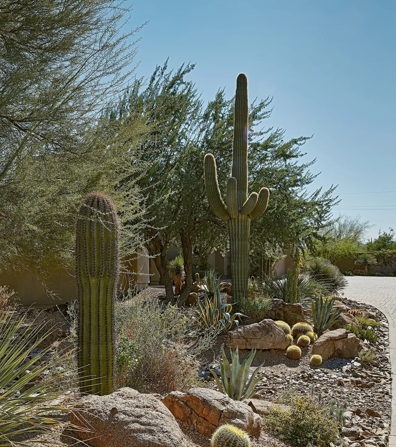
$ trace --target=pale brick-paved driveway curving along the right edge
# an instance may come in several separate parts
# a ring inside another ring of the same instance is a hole
[[[392,366],[392,422],[389,446],[396,447],[396,277],[349,276],[346,298],[371,304],[388,318]]]

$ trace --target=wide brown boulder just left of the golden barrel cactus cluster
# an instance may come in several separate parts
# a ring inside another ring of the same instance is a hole
[[[225,346],[238,349],[286,349],[290,340],[274,320],[240,326],[227,333]]]

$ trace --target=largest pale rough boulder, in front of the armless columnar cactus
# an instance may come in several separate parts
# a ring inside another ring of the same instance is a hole
[[[175,417],[150,394],[120,388],[108,396],[85,396],[77,408],[81,414],[71,413],[71,423],[91,431],[75,430],[75,434],[92,447],[187,445]]]

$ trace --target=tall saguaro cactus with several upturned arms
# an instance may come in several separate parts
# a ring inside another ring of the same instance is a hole
[[[247,197],[248,120],[247,78],[244,73],[240,73],[235,93],[233,162],[227,183],[226,204],[221,198],[217,182],[216,160],[213,154],[206,154],[204,159],[208,202],[217,217],[228,223],[232,290],[237,302],[247,298],[250,219],[264,214],[270,195],[267,188],[262,188],[258,194],[251,193]]]

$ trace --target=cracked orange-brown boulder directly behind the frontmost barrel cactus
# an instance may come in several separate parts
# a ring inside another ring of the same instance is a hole
[[[177,419],[207,437],[222,424],[233,424],[249,434],[261,430],[261,417],[247,403],[234,401],[210,388],[191,388],[185,393],[174,391],[163,403]]]

